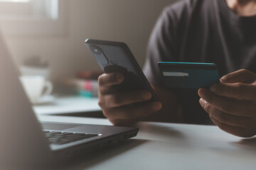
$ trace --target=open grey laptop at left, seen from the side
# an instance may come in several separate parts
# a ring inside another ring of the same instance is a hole
[[[1,33],[0,59],[0,166],[53,164],[137,135],[138,128],[38,122]]]

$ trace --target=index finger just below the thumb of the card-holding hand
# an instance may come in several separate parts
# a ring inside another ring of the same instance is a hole
[[[219,96],[236,98],[238,100],[256,101],[256,86],[253,84],[213,84],[210,86],[210,91],[213,91]]]

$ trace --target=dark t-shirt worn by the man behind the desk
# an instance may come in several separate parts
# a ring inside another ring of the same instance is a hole
[[[256,72],[256,16],[238,16],[225,0],[184,0],[165,8],[151,34],[144,72],[164,86],[157,62],[212,62],[220,77]],[[187,123],[207,124],[198,89],[176,89]],[[171,111],[170,111],[171,114]]]

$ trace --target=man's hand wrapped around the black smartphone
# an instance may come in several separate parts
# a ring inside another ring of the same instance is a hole
[[[151,98],[149,91],[115,91],[114,85],[121,84],[122,81],[124,75],[119,72],[102,74],[98,78],[99,105],[113,125],[132,125],[159,111],[159,101],[133,105],[148,101]]]

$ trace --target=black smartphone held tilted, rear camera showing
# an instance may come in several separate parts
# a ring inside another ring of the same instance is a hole
[[[85,44],[105,73],[124,74],[122,84],[115,85],[117,91],[150,91],[152,98],[149,101],[158,101],[149,81],[124,42],[87,39]]]

